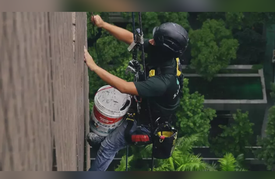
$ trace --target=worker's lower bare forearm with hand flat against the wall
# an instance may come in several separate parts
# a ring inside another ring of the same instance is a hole
[[[95,72],[104,82],[110,86],[114,87],[121,93],[139,96],[134,82],[126,82],[125,80],[118,78],[117,76],[112,75],[111,73],[97,66],[85,47],[84,61],[90,70]]]

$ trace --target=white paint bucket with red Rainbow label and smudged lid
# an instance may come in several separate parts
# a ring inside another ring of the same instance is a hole
[[[127,100],[129,100],[128,103],[126,103]],[[128,94],[120,93],[109,85],[101,87],[94,97],[93,111],[90,116],[91,130],[100,136],[109,135],[123,122],[123,117],[131,105],[130,101],[131,97]]]

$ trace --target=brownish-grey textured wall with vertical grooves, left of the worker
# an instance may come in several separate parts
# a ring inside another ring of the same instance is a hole
[[[0,171],[83,170],[86,19],[86,12],[0,13]]]

